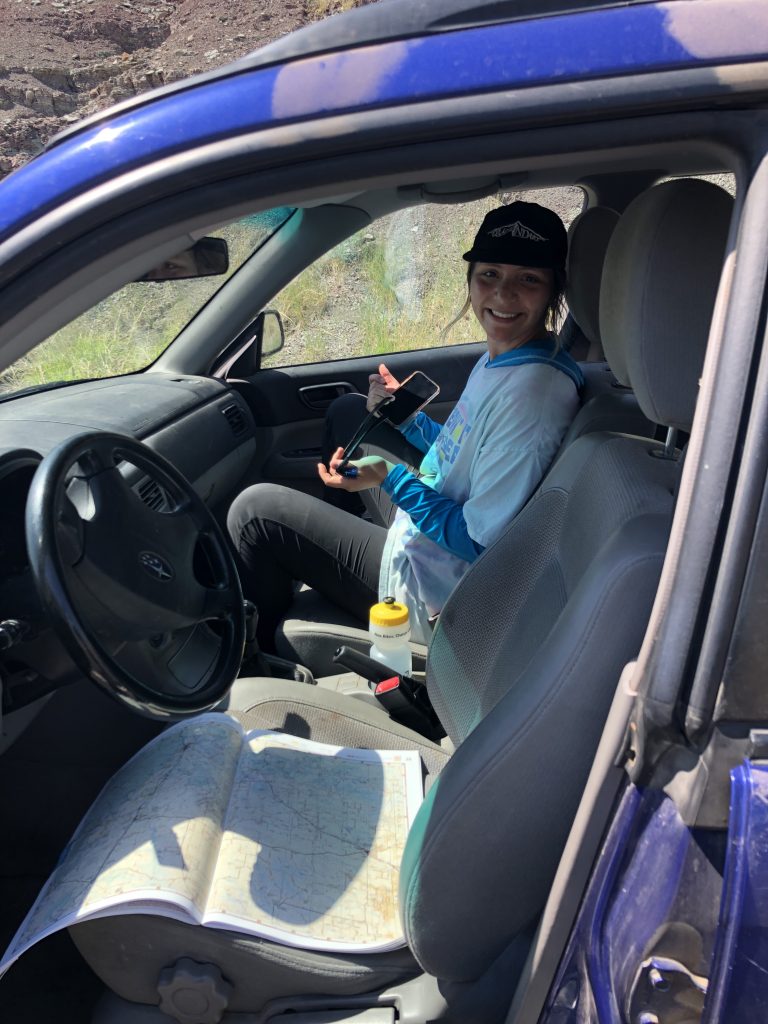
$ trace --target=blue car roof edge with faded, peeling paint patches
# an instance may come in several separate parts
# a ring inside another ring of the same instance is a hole
[[[458,6],[457,0],[452,3]],[[260,51],[252,66],[237,66],[237,74],[230,66],[167,94],[150,93],[133,106],[113,108],[61,136],[52,150],[3,182],[0,234],[7,238],[46,209],[61,207],[81,191],[152,161],[272,126],[347,117],[383,105],[396,120],[397,110],[443,98],[600,78],[626,82],[633,74],[706,72],[768,55],[768,36],[759,18],[730,18],[726,33],[722,10],[712,17],[709,0],[680,0],[673,6],[674,17],[669,3],[616,6],[577,0],[555,7],[553,2],[556,17],[520,13],[500,25],[428,32],[329,56],[307,56],[302,44],[298,48],[305,55],[300,61],[275,62],[279,51],[267,47],[273,55],[267,66],[261,67],[266,51]],[[434,0],[426,7],[434,11]],[[754,10],[749,0],[743,7]],[[402,0],[382,9],[406,13]],[[510,9],[527,11],[529,5],[518,2]],[[318,34],[334,22],[318,25]],[[411,24],[415,32],[416,22]],[[477,53],[482,59],[476,59]],[[720,83],[717,76],[713,80]],[[634,95],[646,92],[637,88]]]

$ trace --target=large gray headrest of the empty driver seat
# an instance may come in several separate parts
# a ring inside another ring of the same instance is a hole
[[[690,429],[732,208],[708,181],[667,181],[630,203],[608,243],[600,334],[653,423]]]

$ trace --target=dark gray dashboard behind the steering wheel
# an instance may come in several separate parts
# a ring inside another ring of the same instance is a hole
[[[62,441],[93,430],[143,441],[173,463],[210,507],[231,498],[256,450],[245,399],[211,378],[146,373],[0,402],[0,688],[6,726],[10,713],[82,678],[37,597],[26,508],[42,459]],[[121,472],[145,505],[162,509],[157,481],[129,464]],[[119,523],[115,529],[119,536]],[[8,729],[3,732],[0,751],[8,741]]]

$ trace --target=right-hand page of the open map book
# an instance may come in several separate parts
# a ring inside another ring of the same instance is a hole
[[[251,734],[206,921],[311,949],[403,945],[399,867],[422,795],[415,751]]]

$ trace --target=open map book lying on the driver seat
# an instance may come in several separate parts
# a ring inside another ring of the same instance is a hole
[[[223,714],[182,722],[101,792],[0,974],[52,932],[121,913],[309,949],[403,945],[397,881],[422,795],[416,752],[246,733]]]

